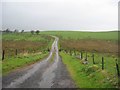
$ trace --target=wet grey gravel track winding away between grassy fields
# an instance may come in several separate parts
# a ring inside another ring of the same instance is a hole
[[[23,69],[3,76],[3,88],[75,88],[66,66],[59,56],[58,41],[55,37],[47,58]],[[54,61],[50,60],[54,55]]]

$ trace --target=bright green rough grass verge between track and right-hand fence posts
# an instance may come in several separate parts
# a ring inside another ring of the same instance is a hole
[[[82,64],[82,60],[63,52],[60,55],[78,88],[117,87],[117,78],[108,73],[107,69],[101,70],[97,64]]]

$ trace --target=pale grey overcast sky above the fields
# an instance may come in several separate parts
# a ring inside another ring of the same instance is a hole
[[[2,1],[3,29],[92,31],[118,29],[119,0],[16,1]]]

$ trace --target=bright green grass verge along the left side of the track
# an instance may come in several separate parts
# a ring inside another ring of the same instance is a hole
[[[6,58],[2,62],[2,74],[7,75],[13,70],[16,70],[18,68],[25,67],[27,65],[33,64],[37,61],[43,60],[48,55],[48,53],[44,54],[33,54],[33,55],[27,55],[27,56],[17,56],[17,57],[11,57]]]

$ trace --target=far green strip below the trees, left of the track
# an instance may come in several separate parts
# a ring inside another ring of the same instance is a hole
[[[49,40],[49,36],[36,35],[31,33],[3,33],[2,40],[47,42]]]

